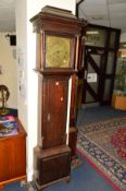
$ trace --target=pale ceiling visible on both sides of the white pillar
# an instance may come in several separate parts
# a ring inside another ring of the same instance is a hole
[[[126,0],[84,0],[79,4],[79,17],[85,17],[89,23],[121,28],[126,33]],[[13,31],[15,0],[0,0],[0,32]]]

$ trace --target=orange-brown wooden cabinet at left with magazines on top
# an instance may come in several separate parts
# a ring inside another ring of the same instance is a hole
[[[17,127],[18,134],[0,139],[0,188],[26,179],[26,132]]]

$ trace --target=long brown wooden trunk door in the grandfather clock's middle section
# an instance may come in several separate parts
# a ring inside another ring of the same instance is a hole
[[[43,77],[42,148],[66,142],[67,77]]]

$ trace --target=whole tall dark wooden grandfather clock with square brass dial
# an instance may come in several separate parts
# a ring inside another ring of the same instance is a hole
[[[40,118],[34,150],[35,180],[42,189],[70,180],[71,150],[66,145],[68,82],[77,71],[84,23],[71,11],[45,7],[30,22],[37,34],[36,71],[39,73]]]

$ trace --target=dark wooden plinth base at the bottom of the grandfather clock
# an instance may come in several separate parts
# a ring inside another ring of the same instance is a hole
[[[43,189],[59,181],[70,181],[71,150],[66,145],[49,150],[35,147],[35,182],[38,189]]]

